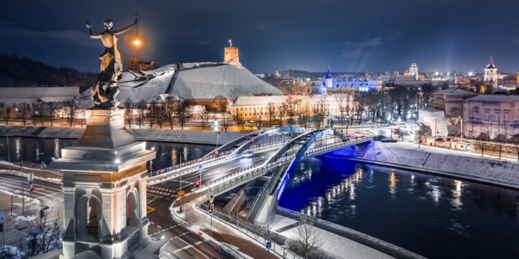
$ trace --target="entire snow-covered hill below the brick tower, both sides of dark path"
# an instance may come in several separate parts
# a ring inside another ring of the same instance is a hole
[[[161,66],[148,71],[125,71],[118,82],[117,99],[139,102],[159,100],[172,94],[181,99],[235,98],[239,95],[282,95],[271,84],[256,77],[242,66],[226,63],[200,62]],[[90,90],[82,93],[86,97]]]

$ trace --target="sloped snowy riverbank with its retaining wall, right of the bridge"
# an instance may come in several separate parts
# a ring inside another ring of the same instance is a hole
[[[358,162],[441,175],[519,190],[519,162],[410,142],[372,142]]]

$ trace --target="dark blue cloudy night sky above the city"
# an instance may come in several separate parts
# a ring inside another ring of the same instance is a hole
[[[254,73],[301,69],[519,70],[517,0],[125,0],[3,1],[0,52],[97,72],[104,19],[138,13],[145,46],[161,65],[221,61],[227,39]],[[127,37],[134,36],[131,30]],[[131,48],[120,40],[123,58]]]

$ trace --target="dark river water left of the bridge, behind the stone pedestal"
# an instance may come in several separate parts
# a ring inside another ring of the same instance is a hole
[[[73,146],[76,140],[45,139],[37,137],[9,137],[10,161],[24,166],[39,167],[41,162],[47,165],[53,158],[60,157],[61,148]],[[197,144],[177,144],[168,142],[147,142],[147,149],[156,151],[153,169],[163,169],[172,163],[194,160],[212,151],[215,147]],[[0,160],[8,161],[7,137],[0,137]]]

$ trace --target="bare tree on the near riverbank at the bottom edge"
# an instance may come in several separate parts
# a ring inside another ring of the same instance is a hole
[[[298,229],[296,230],[291,248],[303,258],[312,258],[313,253],[318,251],[322,244],[323,242],[317,229],[313,227],[313,219],[306,215],[300,215]]]

